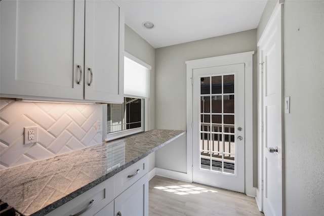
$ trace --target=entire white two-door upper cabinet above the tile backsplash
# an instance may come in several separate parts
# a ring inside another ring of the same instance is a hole
[[[3,0],[0,12],[1,97],[123,101],[124,13],[117,4]]]

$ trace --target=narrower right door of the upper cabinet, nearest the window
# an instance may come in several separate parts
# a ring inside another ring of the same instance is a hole
[[[85,99],[123,102],[124,12],[110,0],[86,0]]]

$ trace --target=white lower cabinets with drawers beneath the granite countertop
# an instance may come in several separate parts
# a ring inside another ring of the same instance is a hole
[[[148,158],[144,158],[46,216],[148,216]]]

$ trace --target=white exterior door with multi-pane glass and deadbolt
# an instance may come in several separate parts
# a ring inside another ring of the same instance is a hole
[[[245,64],[193,69],[193,182],[245,192]]]

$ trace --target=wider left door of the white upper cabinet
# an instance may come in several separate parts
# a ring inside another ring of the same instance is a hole
[[[0,10],[2,97],[84,99],[84,0],[3,0]]]

